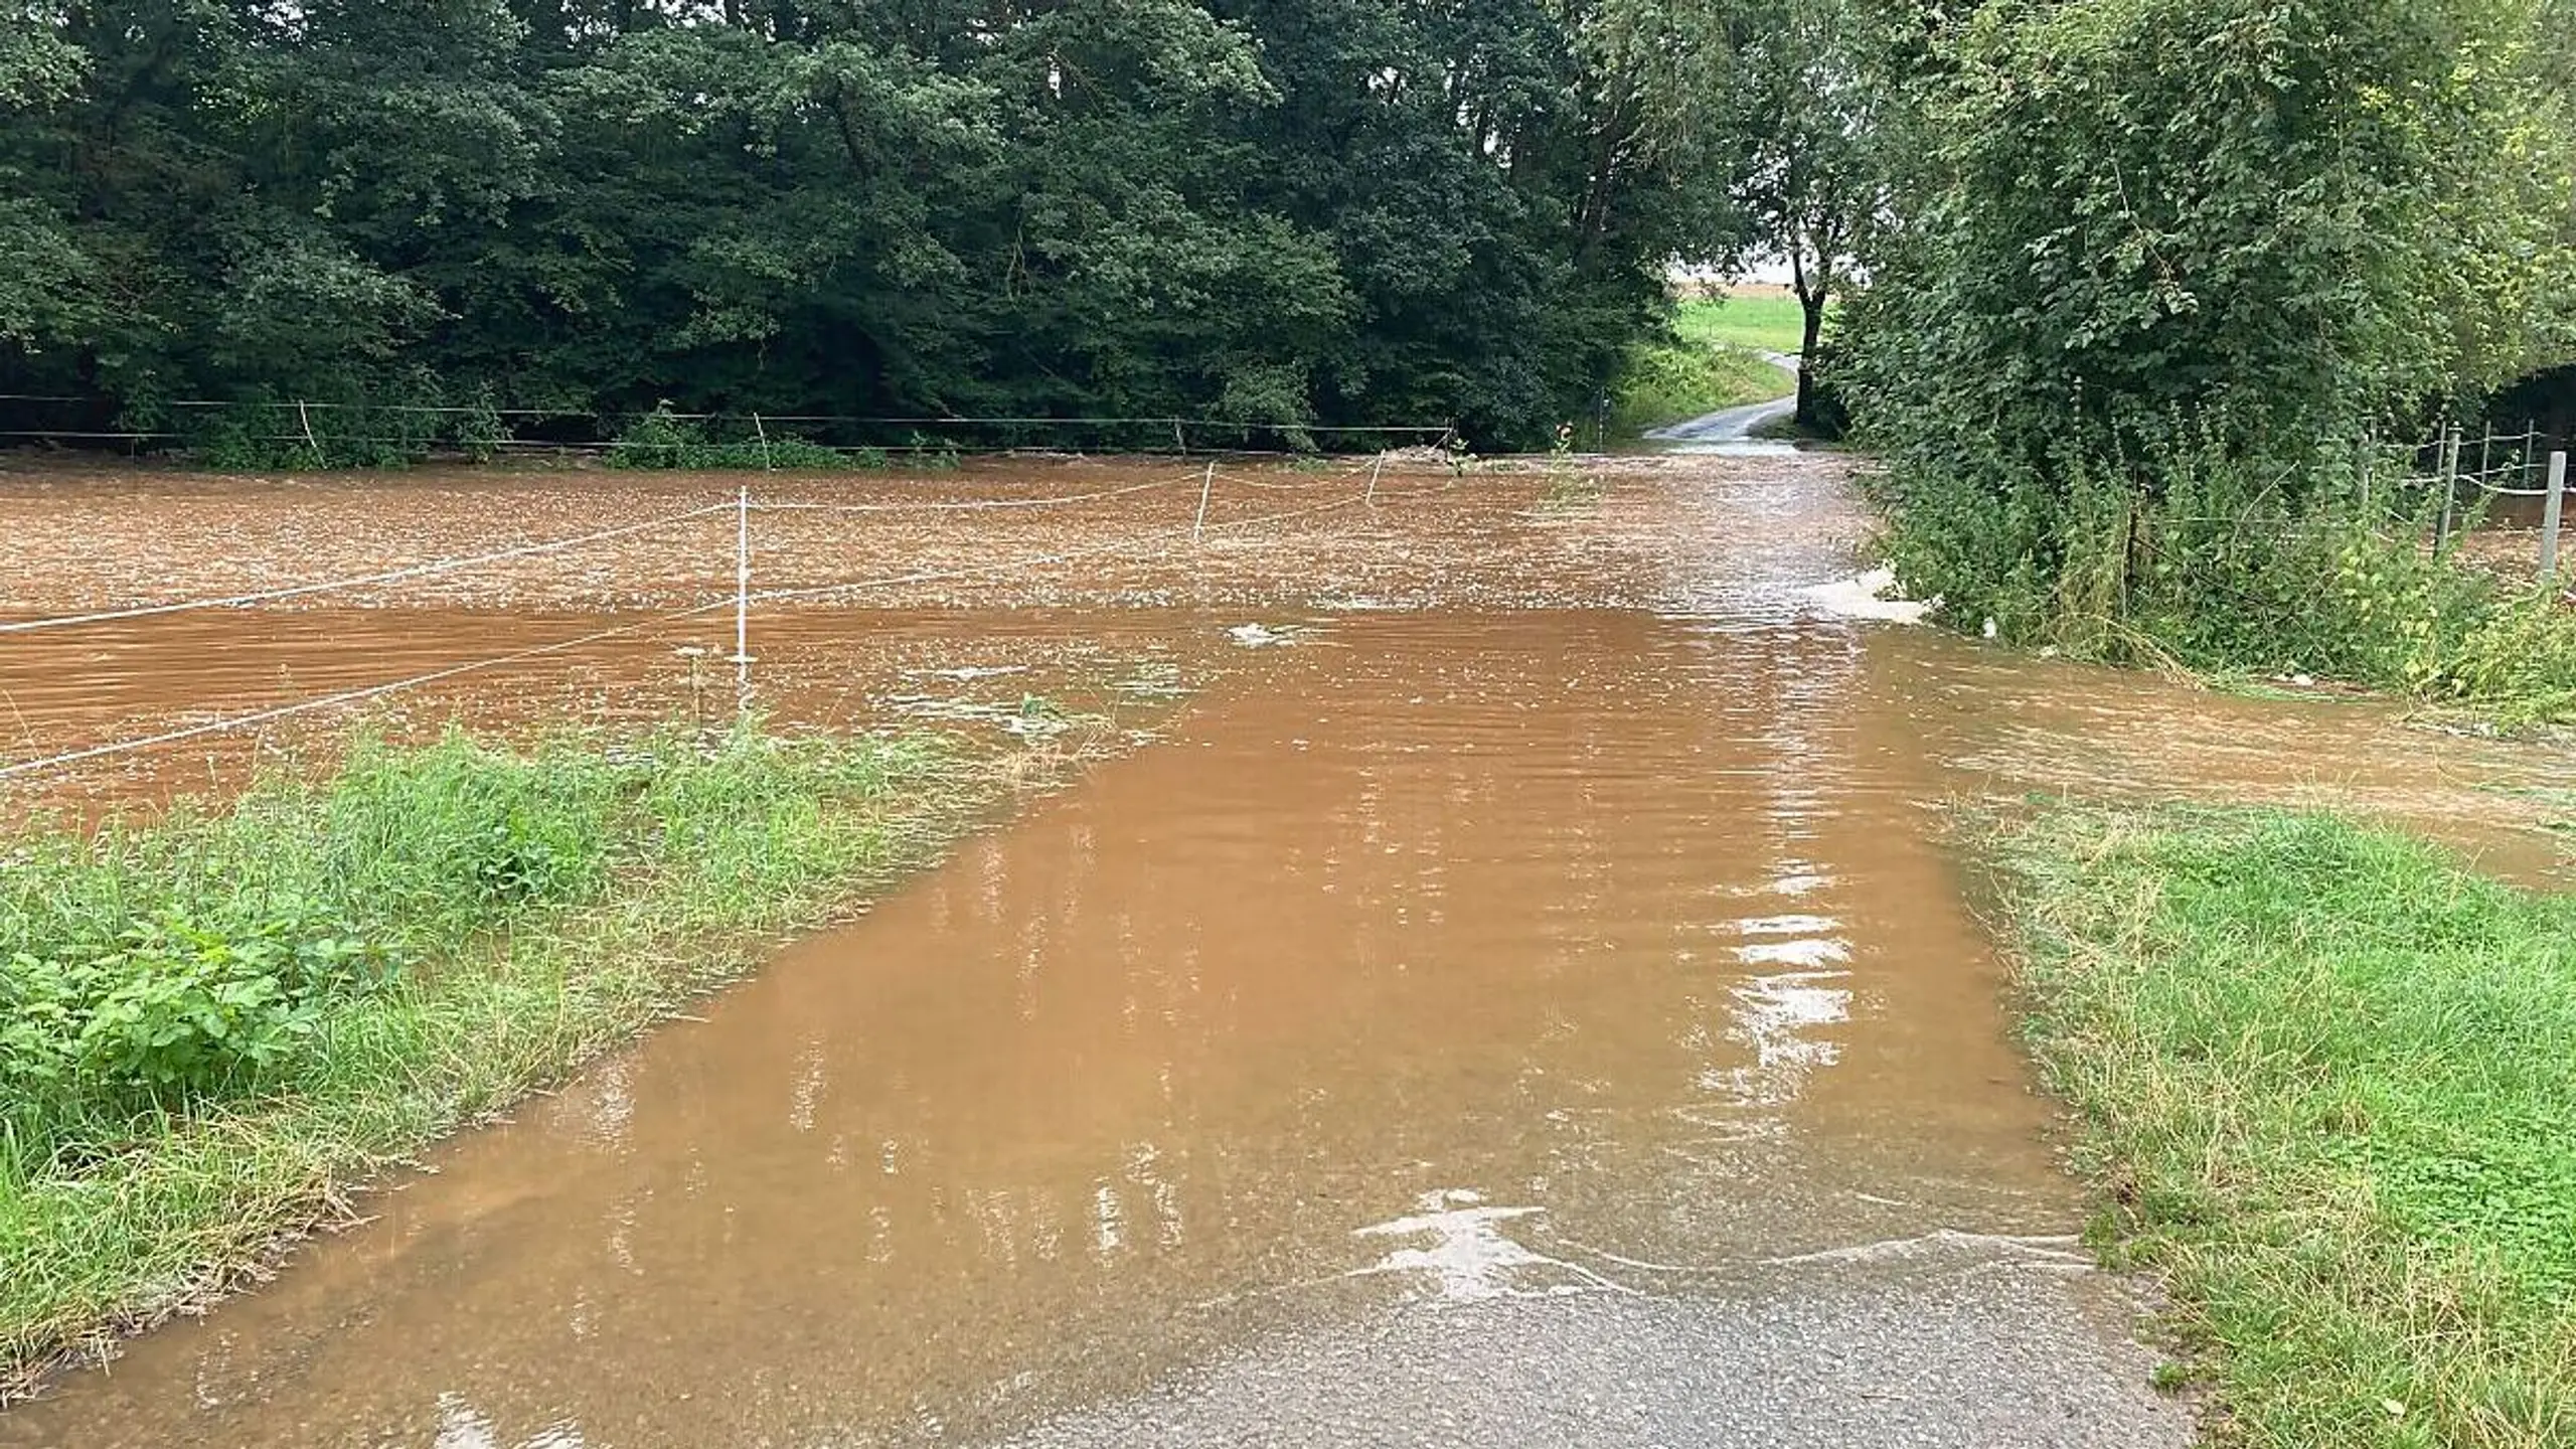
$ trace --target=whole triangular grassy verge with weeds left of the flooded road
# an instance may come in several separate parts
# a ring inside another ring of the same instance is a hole
[[[0,846],[0,1400],[845,908],[1023,758],[938,735],[361,740]]]

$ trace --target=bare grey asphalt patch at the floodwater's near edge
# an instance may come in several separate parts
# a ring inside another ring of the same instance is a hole
[[[1932,1235],[1695,1284],[1520,1261],[1358,1323],[1291,1330],[1018,1449],[1955,1446],[2164,1449],[2138,1305],[2061,1240]],[[1548,1281],[1548,1279],[1556,1281]],[[1492,1292],[1484,1292],[1492,1289]]]

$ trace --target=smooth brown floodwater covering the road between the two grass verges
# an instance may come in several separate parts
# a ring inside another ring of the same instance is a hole
[[[1270,665],[0,1444],[979,1441],[1270,1336],[2074,1222],[1852,629]],[[2050,1387],[2154,1418],[2130,1369]]]

